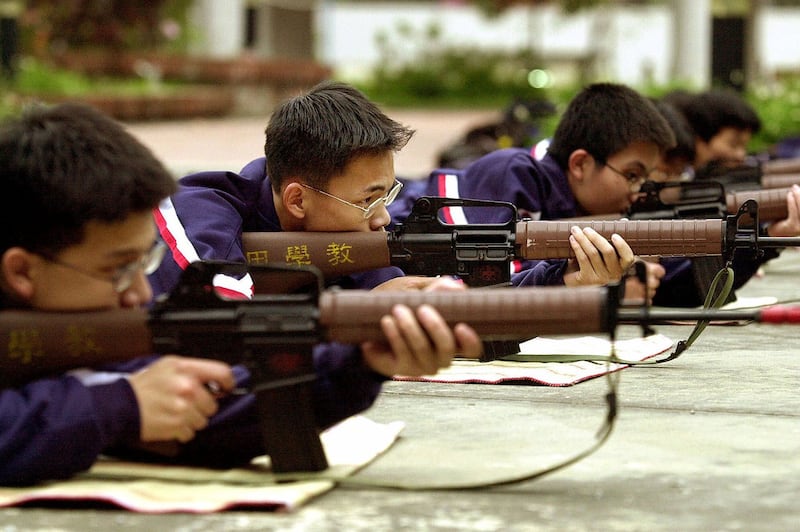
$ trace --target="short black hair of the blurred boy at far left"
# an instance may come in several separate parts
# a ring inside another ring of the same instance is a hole
[[[89,221],[151,210],[174,177],[125,128],[82,103],[35,104],[0,126],[0,252],[57,254]]]

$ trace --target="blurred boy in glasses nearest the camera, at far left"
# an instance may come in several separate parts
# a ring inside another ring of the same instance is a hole
[[[124,128],[83,105],[32,108],[0,127],[0,179],[0,309],[67,312],[150,302],[146,275],[165,249],[153,244],[152,211],[175,182]],[[399,307],[382,325],[388,346],[315,348],[320,428],[368,408],[389,375],[435,373],[449,364],[456,344],[479,354],[472,329],[451,330],[430,307],[416,315]],[[67,478],[101,453],[246,464],[264,453],[254,397],[226,391],[247,386],[247,379],[239,366],[143,353],[102,372],[0,388],[0,485]],[[162,442],[178,454],[144,449]]]

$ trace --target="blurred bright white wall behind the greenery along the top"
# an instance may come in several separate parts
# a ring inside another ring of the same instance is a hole
[[[361,76],[379,59],[376,36],[397,35],[399,25],[418,32],[431,24],[450,44],[499,49],[531,47],[547,55],[576,58],[596,50],[603,75],[629,84],[671,81],[673,19],[669,3],[586,10],[565,15],[557,7],[514,8],[486,19],[470,6],[430,3],[324,2],[318,17],[319,58],[338,73]],[[757,20],[759,76],[800,71],[800,9],[766,6]],[[407,42],[398,60],[413,58],[424,42]],[[700,52],[698,52],[700,53]],[[708,52],[710,53],[710,52]]]

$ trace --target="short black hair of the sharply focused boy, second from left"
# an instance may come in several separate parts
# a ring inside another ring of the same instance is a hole
[[[291,177],[324,189],[353,159],[400,151],[414,130],[386,116],[358,89],[326,81],[280,105],[265,134],[274,190]]]

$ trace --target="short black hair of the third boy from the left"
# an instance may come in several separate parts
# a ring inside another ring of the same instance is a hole
[[[648,98],[626,85],[594,83],[570,101],[547,152],[566,169],[575,150],[605,163],[637,141],[651,142],[663,153],[675,145],[675,136]]]

